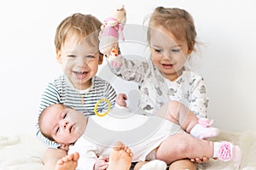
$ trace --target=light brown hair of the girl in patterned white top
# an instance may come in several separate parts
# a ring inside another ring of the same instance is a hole
[[[194,49],[196,37],[194,20],[186,10],[180,8],[155,8],[148,23],[148,42],[150,42],[151,31],[156,26],[165,27],[178,40],[187,41],[189,50]]]

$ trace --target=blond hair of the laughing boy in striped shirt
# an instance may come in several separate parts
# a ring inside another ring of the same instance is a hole
[[[98,46],[99,31],[102,26],[100,20],[91,14],[72,14],[57,27],[55,32],[55,48],[61,50],[61,46],[69,36],[77,36],[78,41],[86,37],[91,45]]]

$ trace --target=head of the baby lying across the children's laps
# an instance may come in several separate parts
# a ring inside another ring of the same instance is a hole
[[[84,133],[87,119],[62,104],[49,105],[38,118],[41,133],[59,144],[73,144]]]

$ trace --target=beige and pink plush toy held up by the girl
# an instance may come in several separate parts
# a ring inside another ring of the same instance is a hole
[[[104,20],[99,35],[100,52],[104,55],[110,54],[112,48],[117,48],[119,37],[125,41],[123,29],[126,22],[126,12],[124,5],[114,10],[112,16]]]

